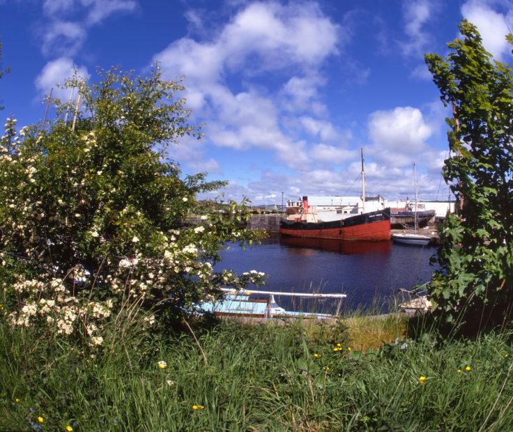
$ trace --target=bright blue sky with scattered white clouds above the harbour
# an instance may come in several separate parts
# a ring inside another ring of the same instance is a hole
[[[416,162],[420,196],[446,199],[447,113],[423,54],[447,54],[463,17],[512,63],[508,0],[0,0],[1,115],[39,121],[74,66],[95,80],[160,61],[204,123],[171,155],[229,180],[225,198],[358,194],[364,148],[368,194],[412,196]]]

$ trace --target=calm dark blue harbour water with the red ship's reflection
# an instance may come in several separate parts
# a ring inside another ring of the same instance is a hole
[[[222,252],[216,270],[266,272],[270,291],[308,292],[310,284],[325,293],[346,293],[345,306],[369,307],[376,295],[385,300],[399,288],[429,281],[436,268],[429,258],[436,247],[393,242],[270,238],[261,245]],[[286,299],[280,306],[286,307]]]

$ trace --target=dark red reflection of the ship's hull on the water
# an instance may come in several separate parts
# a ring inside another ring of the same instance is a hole
[[[280,237],[280,245],[298,249],[305,252],[308,249],[318,249],[326,252],[336,252],[337,254],[389,254],[390,242],[351,242],[347,240],[332,240],[327,238],[300,238],[300,237]]]

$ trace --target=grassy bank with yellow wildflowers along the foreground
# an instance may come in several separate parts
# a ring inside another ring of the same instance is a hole
[[[352,320],[220,323],[198,343],[135,326],[96,352],[1,325],[0,429],[513,430],[511,334],[441,344],[404,339],[401,321]],[[379,327],[402,339],[373,349]]]

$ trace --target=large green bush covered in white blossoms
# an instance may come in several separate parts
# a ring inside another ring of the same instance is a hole
[[[258,272],[214,272],[224,242],[252,242],[238,228],[245,203],[203,214],[198,192],[223,183],[181,176],[168,155],[189,111],[179,82],[118,70],[80,88],[75,129],[64,118],[23,127],[8,118],[0,137],[0,284],[11,323],[102,343],[102,326],[146,310],[145,323],[175,320],[222,286],[261,283]]]

